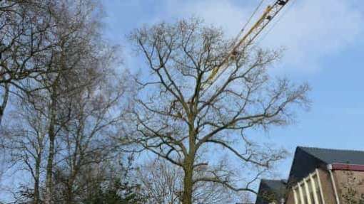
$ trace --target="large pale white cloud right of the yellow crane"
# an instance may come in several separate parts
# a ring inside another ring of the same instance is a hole
[[[360,41],[364,18],[350,1],[305,0],[288,9],[264,41],[288,49],[283,60],[287,68],[318,70],[323,57],[340,53]]]

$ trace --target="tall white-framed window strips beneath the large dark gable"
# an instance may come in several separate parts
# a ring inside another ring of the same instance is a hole
[[[310,173],[293,187],[295,204],[323,204],[318,171]]]

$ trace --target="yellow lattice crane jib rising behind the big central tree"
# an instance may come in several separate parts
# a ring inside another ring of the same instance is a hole
[[[247,45],[251,45],[251,43],[253,43],[259,33],[261,33],[261,31],[266,28],[268,23],[270,23],[272,19],[277,16],[279,11],[283,9],[288,1],[290,0],[276,0],[274,4],[267,6],[266,10],[263,12],[261,17],[258,18],[256,23],[254,23],[249,31],[240,40],[238,39],[235,45],[233,45],[233,48],[228,53],[226,58],[223,59],[220,65],[213,68],[211,74],[208,76],[207,83],[203,85],[203,88],[207,89],[213,84],[218,76],[221,75],[221,73],[223,73],[226,68],[228,68],[229,60],[233,55],[236,55],[238,48],[240,48],[241,46],[246,47]]]

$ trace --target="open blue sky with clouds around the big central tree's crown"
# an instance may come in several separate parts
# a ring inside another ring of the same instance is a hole
[[[359,0],[291,0],[277,23],[258,39],[266,48],[285,48],[272,70],[313,90],[310,112],[298,112],[298,122],[262,133],[264,140],[288,149],[316,146],[364,150],[364,3]],[[141,68],[126,35],[133,28],[181,17],[198,16],[234,36],[258,0],[110,0],[104,1],[105,35],[124,50],[126,67]],[[265,5],[273,1],[265,1]],[[292,156],[292,155],[291,155]],[[288,175],[290,158],[278,170]]]

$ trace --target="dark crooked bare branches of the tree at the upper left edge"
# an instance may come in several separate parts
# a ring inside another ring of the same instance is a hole
[[[0,2],[0,123],[11,92],[37,90],[44,65],[58,41],[52,1]]]

